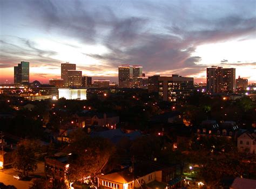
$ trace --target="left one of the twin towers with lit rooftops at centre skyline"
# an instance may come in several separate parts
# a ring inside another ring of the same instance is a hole
[[[132,77],[133,77],[133,66],[130,66],[130,65],[118,66],[119,88],[130,88]]]

